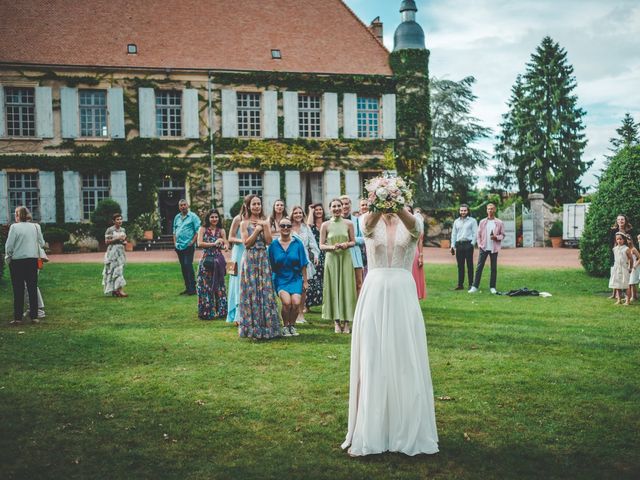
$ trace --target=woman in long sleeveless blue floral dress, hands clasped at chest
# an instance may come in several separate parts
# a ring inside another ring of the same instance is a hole
[[[281,329],[267,255],[271,229],[264,218],[260,197],[250,195],[245,205],[249,218],[240,224],[246,250],[240,271],[240,299],[235,321],[240,337],[275,338],[281,336]]]

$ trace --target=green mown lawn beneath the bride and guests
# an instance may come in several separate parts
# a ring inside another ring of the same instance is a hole
[[[454,270],[427,266],[435,395],[451,400],[440,453],[413,458],[340,450],[350,338],[317,313],[300,337],[239,340],[176,295],[177,265],[129,265],[114,299],[99,265],[50,264],[47,320],[16,328],[5,279],[0,477],[638,478],[640,307],[578,270],[501,268],[499,287],[546,299],[453,292]]]

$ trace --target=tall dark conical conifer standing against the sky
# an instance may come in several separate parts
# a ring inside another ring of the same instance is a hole
[[[580,178],[593,162],[582,160],[585,112],[572,93],[576,86],[566,51],[545,37],[512,88],[496,145],[497,184],[515,177],[521,196],[541,191],[554,203],[580,195]]]

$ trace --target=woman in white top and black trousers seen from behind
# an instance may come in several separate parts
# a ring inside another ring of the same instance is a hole
[[[5,245],[5,256],[11,272],[13,285],[13,321],[11,325],[22,323],[24,310],[24,287],[29,292],[29,315],[32,323],[38,323],[38,258],[44,247],[40,225],[28,221],[29,210],[18,207],[15,211],[16,223],[9,228]]]

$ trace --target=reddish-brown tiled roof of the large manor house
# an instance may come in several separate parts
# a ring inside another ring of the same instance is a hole
[[[5,64],[391,75],[341,0],[0,0],[0,19]]]

